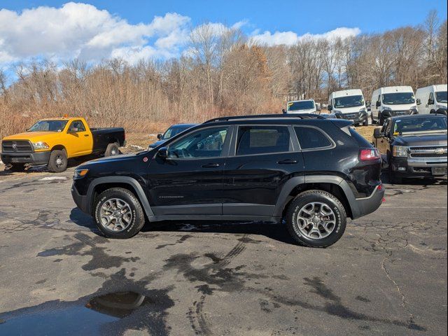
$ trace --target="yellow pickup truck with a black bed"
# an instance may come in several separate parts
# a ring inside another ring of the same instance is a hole
[[[64,172],[69,158],[83,155],[117,155],[125,146],[125,130],[90,128],[84,118],[39,120],[27,132],[4,137],[1,160],[9,169],[48,165],[51,172]]]

